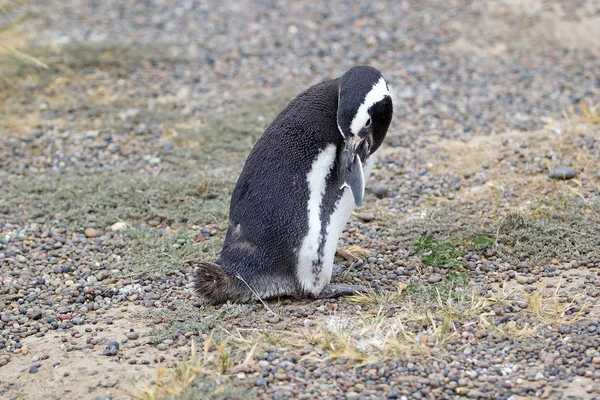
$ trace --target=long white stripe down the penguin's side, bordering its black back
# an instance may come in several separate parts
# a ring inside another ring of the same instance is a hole
[[[322,289],[322,287],[315,286],[315,283],[318,284],[319,280],[315,279],[313,273],[313,261],[316,261],[319,255],[321,201],[325,195],[327,177],[333,168],[335,154],[336,149],[334,144],[325,147],[313,161],[312,168],[306,176],[309,190],[307,205],[308,233],[304,237],[302,246],[298,252],[298,270],[296,276],[302,288],[313,294],[318,294]]]

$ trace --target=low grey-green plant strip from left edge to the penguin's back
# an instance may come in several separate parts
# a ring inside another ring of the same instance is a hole
[[[202,176],[50,174],[15,177],[3,188],[0,215],[20,222],[55,219],[80,226],[117,221],[209,224],[226,220],[231,182]]]

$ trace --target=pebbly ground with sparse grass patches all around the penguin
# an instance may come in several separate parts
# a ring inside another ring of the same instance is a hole
[[[0,58],[0,397],[149,398],[195,342],[201,398],[600,398],[600,117],[581,106],[600,3],[563,3],[7,8],[0,40],[48,69]],[[373,293],[205,307],[193,264],[252,144],[362,63],[395,116],[336,279]]]

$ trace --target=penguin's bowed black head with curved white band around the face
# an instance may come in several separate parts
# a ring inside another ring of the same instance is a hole
[[[347,146],[361,161],[374,153],[392,121],[392,97],[381,72],[356,66],[339,80],[337,123]]]

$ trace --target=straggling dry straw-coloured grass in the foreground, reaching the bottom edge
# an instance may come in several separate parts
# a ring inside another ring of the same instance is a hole
[[[195,362],[184,359],[173,370],[164,371],[163,375],[159,373],[154,385],[141,391],[142,386],[138,385],[138,397],[135,398],[185,399],[187,397],[149,396],[168,387],[176,391],[176,396],[184,393],[181,388],[189,386],[182,385],[180,377],[187,377],[185,382],[194,382],[196,376],[201,376],[204,381],[220,379],[220,382],[227,382],[227,376],[245,371],[245,365],[255,354],[272,348],[293,353],[301,351],[305,359],[311,360],[342,359],[348,362],[348,366],[356,368],[403,357],[428,358],[432,354],[443,354],[444,347],[448,345],[455,346],[451,351],[456,351],[456,346],[461,348],[472,340],[465,340],[462,333],[465,330],[473,332],[471,328],[465,329],[473,325],[479,330],[513,340],[527,340],[543,326],[562,326],[580,321],[587,307],[580,304],[581,299],[568,301],[568,293],[558,288],[549,292],[544,284],[532,293],[520,287],[506,289],[503,286],[484,297],[474,290],[464,290],[461,285],[467,279],[462,274],[456,274],[448,281],[457,285],[456,290],[447,293],[436,290],[433,294],[418,290],[411,292],[407,286],[400,285],[397,291],[351,296],[348,298],[350,301],[364,308],[353,309],[349,313],[340,311],[333,315],[315,316],[310,327],[292,330],[245,328],[251,325],[248,318],[254,315],[249,313],[248,306],[228,304],[220,309],[199,311],[182,305],[174,313],[164,314],[153,310],[145,314],[146,317],[165,318],[165,325],[193,321],[197,326],[195,329],[210,331],[211,335],[205,340],[204,353],[192,358]],[[517,302],[525,302],[527,306],[516,308],[508,321],[495,321],[493,307],[506,307]],[[174,318],[174,314],[178,317]],[[236,324],[237,318],[245,318],[246,323]],[[237,327],[227,328],[229,322]],[[218,335],[219,344],[215,344],[213,335]],[[197,367],[191,368],[191,365]],[[230,389],[226,386],[221,390]]]

